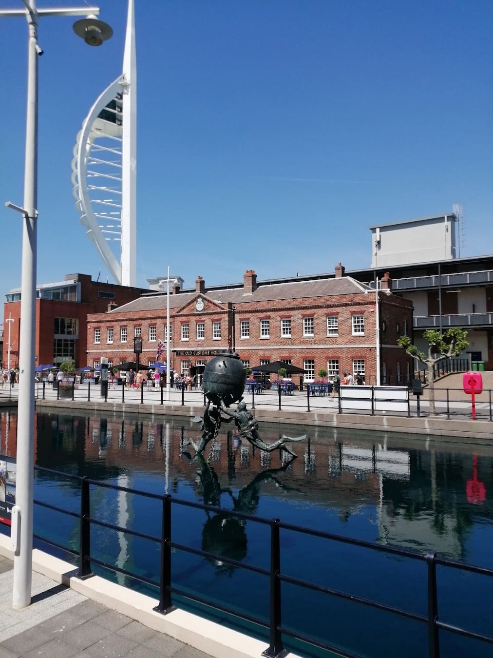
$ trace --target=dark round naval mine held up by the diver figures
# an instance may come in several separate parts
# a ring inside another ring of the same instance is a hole
[[[208,361],[202,376],[202,389],[207,399],[220,405],[223,399],[227,407],[241,399],[247,373],[236,352],[224,352]]]

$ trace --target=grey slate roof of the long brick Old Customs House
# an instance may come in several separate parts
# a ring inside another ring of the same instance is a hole
[[[304,297],[338,297],[339,295],[354,295],[365,290],[372,290],[350,276],[340,278],[296,281],[286,283],[257,283],[257,288],[251,295],[243,294],[243,285],[238,288],[224,288],[204,292],[204,295],[220,304],[255,303],[280,301],[282,299],[302,299]],[[177,309],[190,303],[199,293],[195,290],[184,291],[176,295],[170,293],[170,309]],[[116,307],[108,313],[139,313],[143,311],[166,311],[166,294],[143,295],[128,304]]]

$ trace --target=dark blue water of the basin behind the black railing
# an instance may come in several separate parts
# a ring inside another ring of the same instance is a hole
[[[11,418],[12,422],[12,418]],[[5,445],[5,413],[2,415]],[[423,438],[356,434],[321,428],[261,426],[271,442],[279,434],[302,434],[298,459],[282,461],[220,433],[207,463],[181,454],[183,440],[197,436],[189,420],[37,415],[36,463],[66,473],[154,492],[185,501],[235,509],[266,519],[364,539],[493,568],[493,449]],[[12,434],[12,430],[11,430]],[[10,446],[12,446],[12,438]],[[11,450],[11,447],[10,447]],[[12,453],[13,454],[13,453]],[[193,451],[191,451],[193,455]],[[78,512],[79,485],[37,472],[35,498]],[[161,503],[91,488],[91,517],[160,536]],[[78,548],[78,521],[35,507],[35,532]],[[248,520],[173,505],[174,542],[268,569],[270,530]],[[91,555],[158,582],[157,542],[91,529]],[[66,557],[66,556],[64,556]],[[265,576],[174,551],[174,585],[267,620]],[[427,567],[423,561],[389,556],[348,544],[281,530],[281,569],[321,586],[427,613]],[[158,597],[157,590],[123,576],[114,578]],[[491,578],[438,567],[439,618],[491,634]],[[283,626],[372,657],[427,655],[427,628],[298,586],[282,585]],[[201,611],[203,613],[203,611]],[[221,619],[222,615],[212,615]],[[248,629],[258,636],[260,628]],[[285,644],[301,655],[323,655]],[[440,632],[442,656],[487,656],[491,645]]]

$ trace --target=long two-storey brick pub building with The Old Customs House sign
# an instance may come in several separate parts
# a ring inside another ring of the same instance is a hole
[[[391,290],[388,275],[381,288]],[[195,290],[170,293],[171,365],[181,374],[205,365],[218,351],[234,345],[245,367],[286,361],[308,372],[304,380],[319,379],[325,368],[361,372],[375,384],[376,325],[374,289],[344,276],[335,278],[258,282],[247,270],[243,285],[206,287],[198,277]],[[408,382],[412,363],[396,345],[413,326],[412,303],[379,293],[382,381]],[[149,293],[106,313],[87,316],[87,364],[134,361],[133,338],[143,340],[140,361],[156,361],[158,341],[166,343],[166,293]],[[166,353],[160,356],[165,361]],[[200,372],[200,370],[199,370]]]

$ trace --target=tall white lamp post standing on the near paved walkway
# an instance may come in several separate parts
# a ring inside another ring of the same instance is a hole
[[[110,26],[95,18],[97,7],[36,9],[35,0],[22,0],[25,9],[2,9],[0,16],[24,16],[28,21],[28,102],[26,111],[26,157],[24,164],[24,207],[7,201],[24,217],[22,228],[22,274],[19,339],[19,401],[17,425],[16,505],[12,511],[14,584],[12,607],[31,603],[33,490],[34,490],[34,345],[36,315],[37,249],[37,58],[43,51],[37,43],[39,16],[89,16],[77,21],[74,30],[89,45],[101,45],[112,36]],[[17,530],[17,532],[15,532]]]

